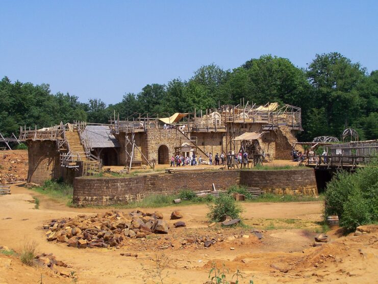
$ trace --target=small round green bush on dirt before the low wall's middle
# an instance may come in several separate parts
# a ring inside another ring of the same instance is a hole
[[[207,217],[213,222],[224,221],[226,216],[230,216],[233,219],[240,218],[240,213],[242,212],[241,207],[234,198],[227,194],[220,194],[219,198],[214,200],[214,205],[209,205],[209,210]]]

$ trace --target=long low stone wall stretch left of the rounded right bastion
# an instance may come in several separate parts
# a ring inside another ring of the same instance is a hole
[[[227,173],[224,175],[224,173]],[[128,178],[75,178],[73,202],[81,205],[109,205],[141,200],[150,194],[175,194],[190,188],[194,191],[225,189],[239,183],[239,171],[161,174]]]

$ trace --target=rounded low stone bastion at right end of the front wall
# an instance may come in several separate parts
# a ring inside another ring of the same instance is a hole
[[[266,193],[318,195],[315,170],[240,171],[240,184],[260,187]]]

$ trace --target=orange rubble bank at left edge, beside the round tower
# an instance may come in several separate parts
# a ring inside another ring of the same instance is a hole
[[[28,176],[28,151],[4,151],[0,155],[0,185],[24,181]]]

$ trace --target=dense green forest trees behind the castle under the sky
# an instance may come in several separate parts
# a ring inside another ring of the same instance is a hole
[[[264,55],[233,70],[216,64],[201,66],[189,80],[148,84],[125,93],[121,102],[106,105],[100,99],[88,103],[69,93],[51,93],[48,84],[0,81],[0,132],[16,135],[20,125],[38,128],[73,120],[108,123],[119,113],[124,119],[134,112],[150,116],[238,104],[241,98],[256,104],[282,102],[302,108],[303,128],[299,140],[331,135],[340,137],[351,127],[361,139],[378,138],[378,70],[367,74],[360,63],[339,53],[316,55],[307,69],[289,59]]]

